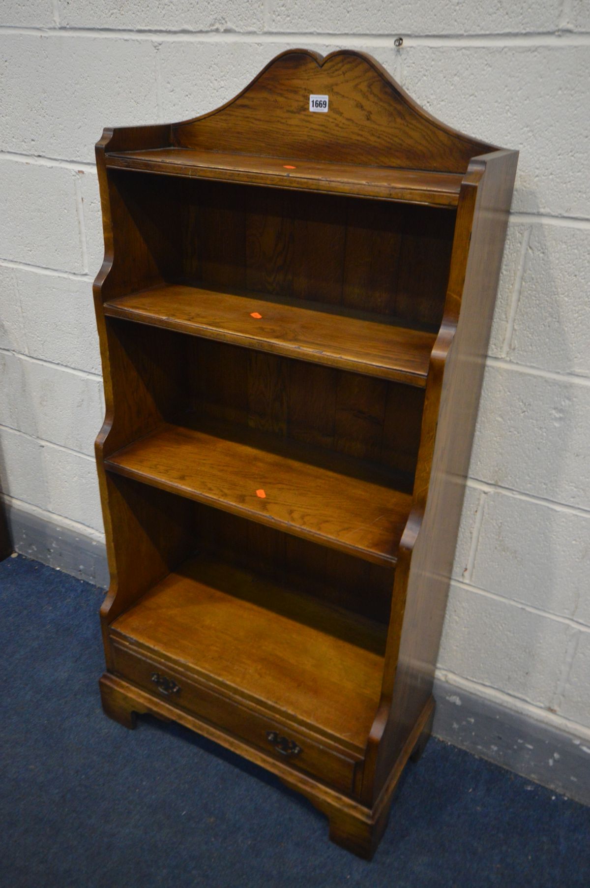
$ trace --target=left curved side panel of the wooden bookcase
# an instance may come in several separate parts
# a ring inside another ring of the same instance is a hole
[[[147,331],[143,345],[134,345],[129,328],[124,323],[106,319],[103,311],[106,298],[120,295],[132,287],[149,285],[158,280],[160,274],[157,259],[153,258],[153,248],[146,243],[134,222],[130,210],[132,200],[128,195],[122,195],[122,182],[118,183],[107,174],[105,149],[117,138],[129,144],[136,137],[145,140],[150,133],[152,138],[154,134],[163,137],[166,130],[166,127],[144,127],[135,131],[106,130],[96,147],[105,259],[94,281],[93,291],[106,415],[95,450],[111,575],[101,608],[106,662],[109,666],[107,625],[167,574],[170,565],[184,557],[190,535],[188,528],[191,527],[189,503],[179,498],[178,501],[171,501],[159,491],[115,478],[105,469],[106,456],[152,431],[162,421],[161,398],[157,396],[159,377],[153,369],[155,361],[152,355],[157,350],[149,347],[153,341],[150,339],[152,331]],[[126,199],[123,199],[124,196]],[[161,337],[161,341],[164,338]]]

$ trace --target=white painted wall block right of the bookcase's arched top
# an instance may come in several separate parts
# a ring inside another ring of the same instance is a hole
[[[500,40],[456,46],[453,52],[409,46],[403,85],[446,123],[520,150],[513,210],[587,218],[590,115],[584,72],[590,56],[587,45],[555,39],[549,46]]]

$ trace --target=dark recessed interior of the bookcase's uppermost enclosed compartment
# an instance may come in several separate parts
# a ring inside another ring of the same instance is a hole
[[[125,234],[105,298],[133,292],[141,269],[136,291],[163,281],[236,288],[440,326],[454,210],[121,170],[108,178]]]

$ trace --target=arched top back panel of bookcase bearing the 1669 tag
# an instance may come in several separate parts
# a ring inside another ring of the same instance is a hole
[[[312,95],[327,97],[327,112],[310,110]],[[437,121],[350,50],[283,52],[235,99],[171,129],[177,147],[458,173],[495,150]]]

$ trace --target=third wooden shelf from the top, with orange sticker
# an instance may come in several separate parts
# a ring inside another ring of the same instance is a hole
[[[395,563],[412,503],[411,484],[398,473],[243,426],[184,421],[123,448],[106,467],[376,564]]]

